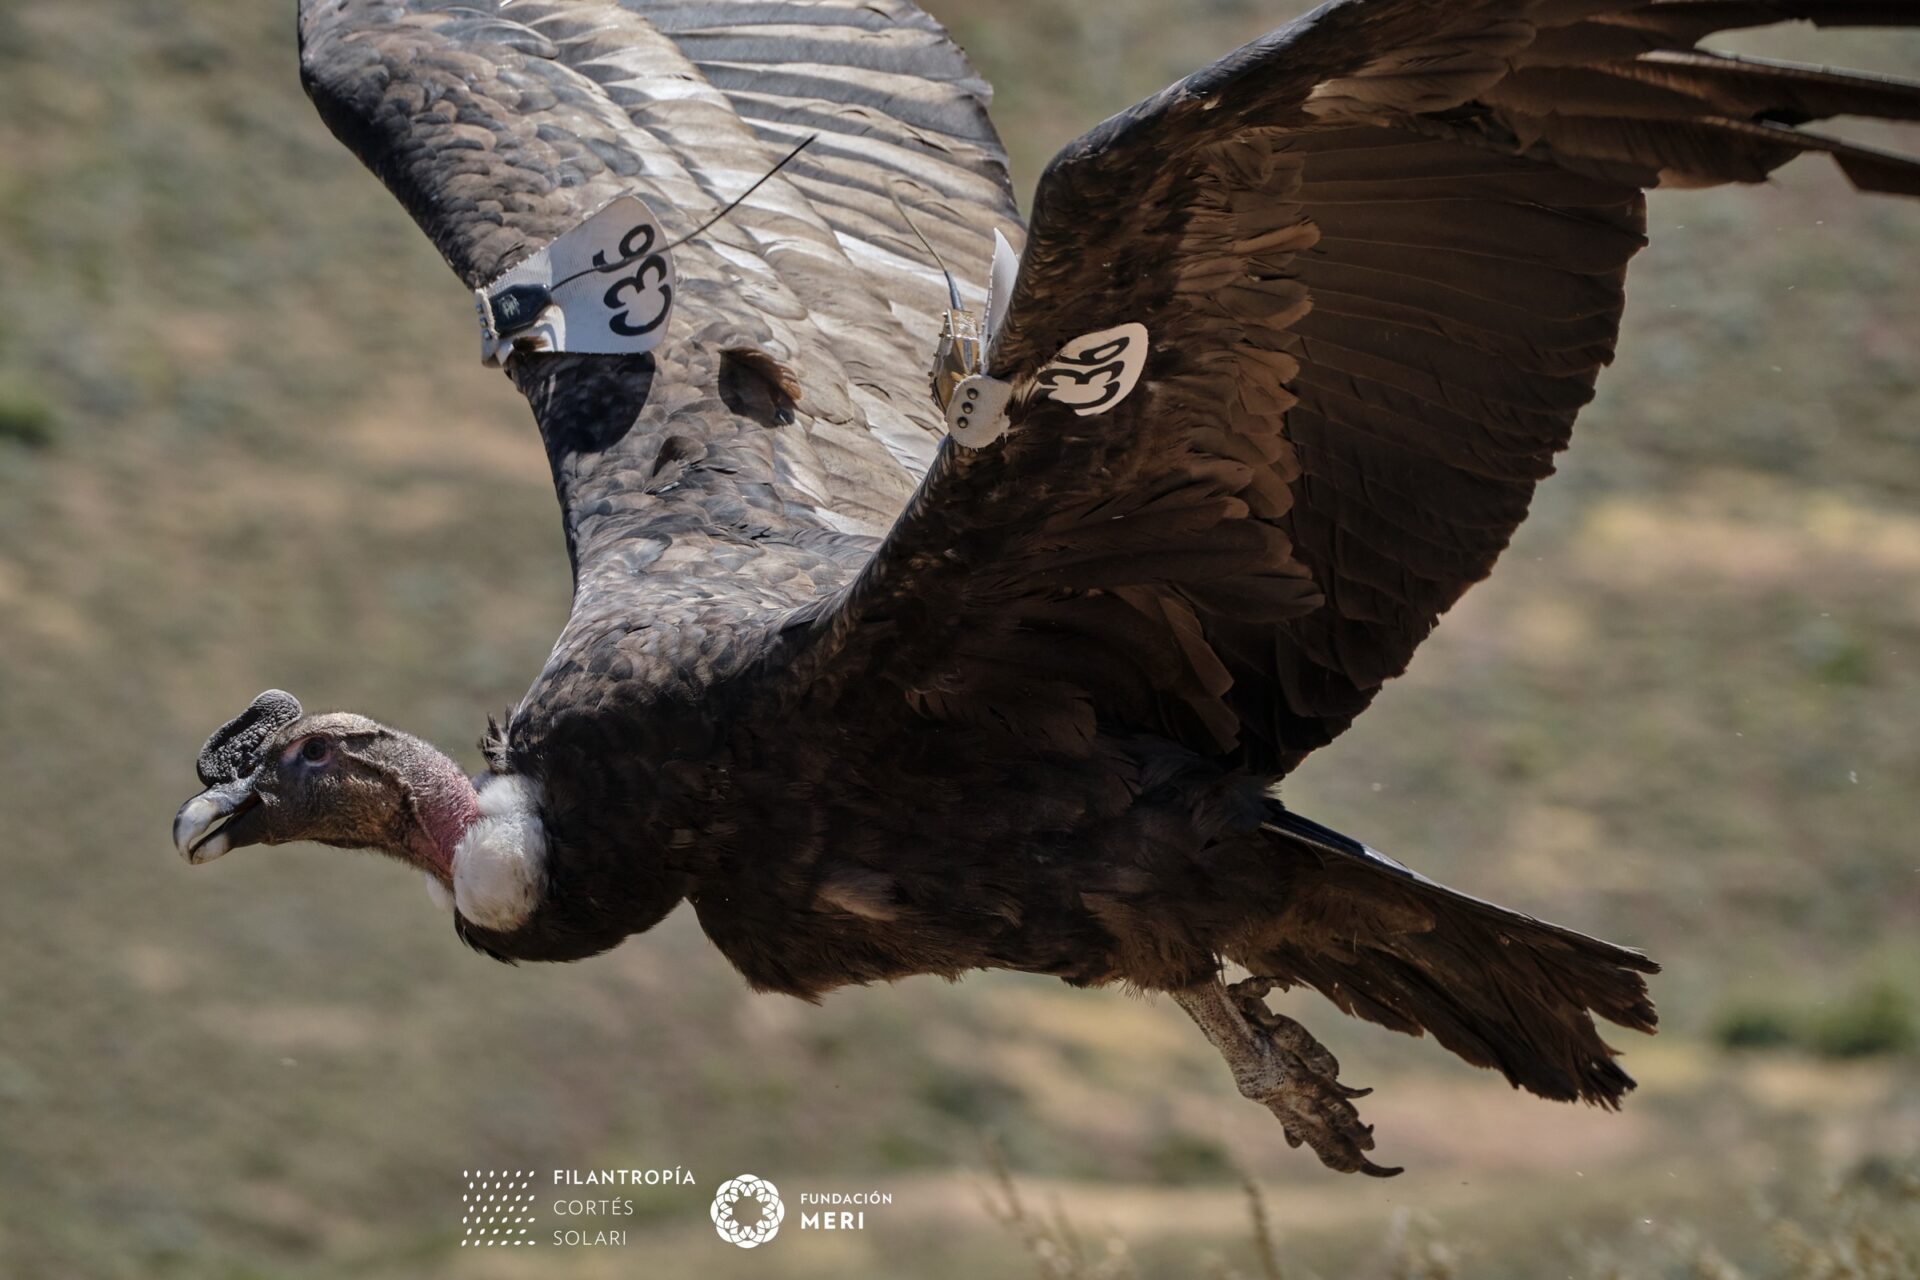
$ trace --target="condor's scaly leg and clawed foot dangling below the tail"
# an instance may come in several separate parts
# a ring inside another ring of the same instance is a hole
[[[1327,1046],[1267,1007],[1271,990],[1271,979],[1254,977],[1233,986],[1213,979],[1171,994],[1227,1059],[1240,1092],[1279,1117],[1290,1146],[1308,1144],[1340,1173],[1400,1173],[1367,1159],[1373,1126],[1359,1123],[1354,1100],[1373,1090],[1340,1084],[1340,1063]]]

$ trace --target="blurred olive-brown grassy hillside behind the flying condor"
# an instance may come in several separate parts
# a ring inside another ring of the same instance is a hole
[[[1236,1169],[1329,1276],[1749,1274],[1647,1238],[1801,1274],[1749,1199],[1920,1151],[1920,211],[1811,163],[1657,196],[1563,476],[1290,783],[1668,965],[1615,1117],[1300,1000],[1411,1165],[1357,1184],[1288,1151],[1164,1002],[991,975],[810,1009],[747,994],[684,915],[505,969],[382,860],[180,864],[194,752],[259,689],[459,750],[566,608],[526,409],[315,121],[288,8],[0,0],[0,1276],[1012,1274],[987,1134],[1152,1276],[1250,1265]],[[1000,86],[1025,190],[1304,6],[933,8]],[[1914,36],[1732,46],[1920,73]],[[703,1196],[643,1196],[626,1249],[455,1247],[463,1169],[599,1165],[895,1209],[743,1253]],[[1407,1222],[1453,1261],[1384,1255]]]

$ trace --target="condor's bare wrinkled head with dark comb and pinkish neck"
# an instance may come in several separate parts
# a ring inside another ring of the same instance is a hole
[[[278,691],[207,739],[200,781],[173,819],[192,864],[313,841],[380,850],[451,887],[453,850],[478,812],[472,783],[440,750],[365,716],[301,714]]]

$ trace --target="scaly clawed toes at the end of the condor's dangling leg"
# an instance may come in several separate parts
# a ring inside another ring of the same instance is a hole
[[[1286,1142],[1306,1142],[1321,1163],[1340,1173],[1390,1178],[1386,1169],[1367,1159],[1373,1126],[1359,1123],[1356,1098],[1371,1088],[1340,1084],[1340,1063],[1306,1027],[1267,1007],[1273,979],[1252,977],[1227,988],[1233,1006],[1254,1032],[1252,1061],[1233,1061],[1233,1077],[1246,1098],[1265,1105],[1286,1130]]]

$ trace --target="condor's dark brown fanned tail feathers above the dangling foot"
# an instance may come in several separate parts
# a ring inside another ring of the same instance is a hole
[[[1476,1067],[1563,1102],[1619,1107],[1634,1079],[1594,1015],[1653,1031],[1640,952],[1453,892],[1269,802],[1283,900],[1227,952],[1367,1021],[1432,1034]]]

